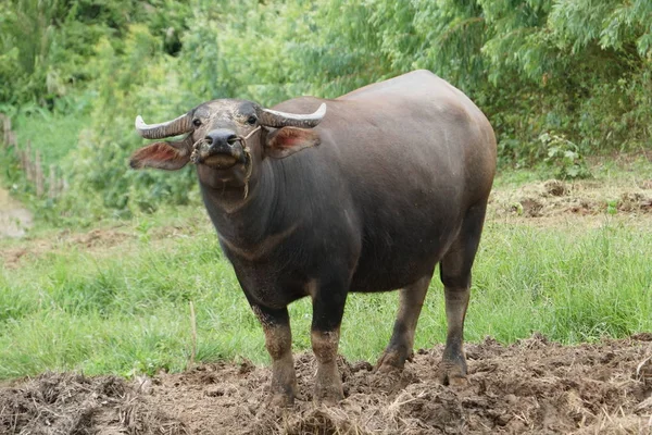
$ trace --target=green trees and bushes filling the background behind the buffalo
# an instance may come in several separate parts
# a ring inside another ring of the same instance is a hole
[[[38,213],[53,220],[196,196],[188,170],[127,169],[138,113],[159,122],[212,98],[334,98],[414,69],[477,102],[502,165],[553,159],[569,169],[561,176],[584,176],[539,138],[556,132],[587,156],[649,147],[651,22],[648,0],[11,0],[0,4],[0,108],[23,120],[36,104],[54,125],[75,117],[61,120],[61,139],[33,140],[71,186]]]

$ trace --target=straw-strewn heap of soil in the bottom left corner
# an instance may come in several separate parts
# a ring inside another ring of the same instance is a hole
[[[116,376],[45,373],[0,389],[2,434],[186,434]]]

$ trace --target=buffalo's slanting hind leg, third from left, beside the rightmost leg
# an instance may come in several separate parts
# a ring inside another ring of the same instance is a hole
[[[421,314],[432,272],[401,289],[400,306],[389,345],[376,366],[379,372],[403,369],[414,355],[414,331]]]

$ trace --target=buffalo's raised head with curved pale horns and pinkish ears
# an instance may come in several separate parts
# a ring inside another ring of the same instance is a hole
[[[208,186],[247,186],[252,171],[265,158],[283,159],[318,145],[319,136],[311,128],[325,114],[326,104],[311,114],[292,114],[251,101],[221,99],[161,124],[149,125],[137,116],[136,129],[147,139],[186,136],[139,149],[130,165],[175,171],[192,162]]]

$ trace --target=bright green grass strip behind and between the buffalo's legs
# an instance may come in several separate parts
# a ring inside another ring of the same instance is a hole
[[[59,246],[18,269],[0,269],[0,378],[45,370],[184,370],[192,348],[190,301],[199,361],[267,362],[261,327],[203,210],[178,210],[134,221],[121,228],[133,237],[111,248]],[[162,237],[155,233],[161,225],[179,229]],[[649,252],[649,227],[607,217],[591,229],[488,222],[466,339],[512,343],[538,331],[577,343],[652,331]],[[442,294],[436,277],[416,347],[444,339]],[[341,352],[374,361],[389,339],[397,303],[396,291],[350,295]],[[310,349],[310,301],[296,302],[290,314],[294,350]]]

